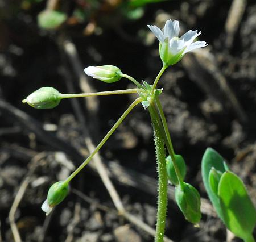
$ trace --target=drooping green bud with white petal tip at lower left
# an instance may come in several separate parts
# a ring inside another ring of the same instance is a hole
[[[42,210],[46,215],[52,211],[52,208],[61,203],[68,195],[68,184],[63,181],[54,183],[48,191],[47,199],[42,205]]]

